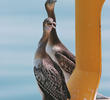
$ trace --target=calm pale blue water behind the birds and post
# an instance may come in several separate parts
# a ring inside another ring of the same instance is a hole
[[[43,4],[44,1],[37,0],[0,0],[0,100],[41,100],[33,74],[33,57],[46,18]],[[107,3],[102,13],[103,71],[99,87],[107,96],[110,96],[109,11]],[[74,2],[59,0],[56,16],[61,41],[75,53]]]

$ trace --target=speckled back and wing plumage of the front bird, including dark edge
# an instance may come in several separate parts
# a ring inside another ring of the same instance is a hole
[[[37,66],[34,66],[34,74],[41,91],[45,91],[54,98],[53,100],[67,100],[67,98],[70,98],[64,75],[50,57],[46,56]]]

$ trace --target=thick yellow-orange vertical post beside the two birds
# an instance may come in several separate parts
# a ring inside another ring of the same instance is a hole
[[[104,0],[76,0],[76,69],[71,100],[95,100],[101,76],[101,8]]]

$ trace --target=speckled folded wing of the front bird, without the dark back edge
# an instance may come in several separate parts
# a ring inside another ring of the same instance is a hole
[[[62,87],[62,78],[53,69],[52,64],[43,62],[40,67],[34,67],[34,74],[40,87],[56,100],[66,100]]]

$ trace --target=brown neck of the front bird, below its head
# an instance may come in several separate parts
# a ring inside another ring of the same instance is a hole
[[[46,33],[45,33],[46,34]],[[39,41],[38,49],[36,51],[35,58],[42,58],[46,56],[46,45],[48,41],[48,35],[43,34],[42,38]]]

